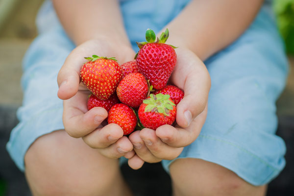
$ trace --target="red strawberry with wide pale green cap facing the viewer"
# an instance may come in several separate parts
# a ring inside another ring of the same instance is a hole
[[[138,116],[143,126],[155,130],[161,125],[174,122],[176,107],[169,95],[150,94],[140,105]]]

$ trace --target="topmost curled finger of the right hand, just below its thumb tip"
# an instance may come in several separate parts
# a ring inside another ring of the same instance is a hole
[[[186,147],[196,140],[205,122],[207,107],[185,129],[162,125],[156,129],[156,136],[171,147]]]

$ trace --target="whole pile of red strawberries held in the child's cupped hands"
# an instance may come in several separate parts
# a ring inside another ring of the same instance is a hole
[[[115,58],[87,57],[80,77],[92,93],[88,109],[105,108],[108,123],[120,125],[124,135],[174,123],[176,105],[184,92],[167,85],[176,64],[175,47],[165,44],[168,37],[168,29],[157,40],[147,29],[147,42],[137,42],[140,50],[136,60],[121,66]]]

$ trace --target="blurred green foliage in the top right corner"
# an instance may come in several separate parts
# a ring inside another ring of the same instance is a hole
[[[273,9],[287,52],[294,54],[294,0],[274,0]]]

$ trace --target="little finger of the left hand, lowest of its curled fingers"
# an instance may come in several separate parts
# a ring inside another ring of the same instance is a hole
[[[132,143],[126,136],[123,136],[109,147],[99,148],[99,152],[108,158],[120,158],[132,149]]]

